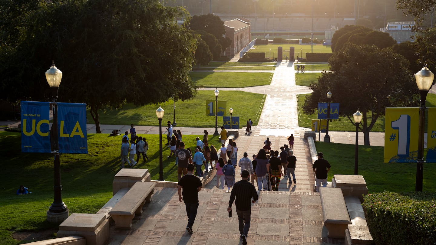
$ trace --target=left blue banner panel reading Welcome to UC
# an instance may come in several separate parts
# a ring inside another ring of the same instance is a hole
[[[49,102],[21,101],[21,152],[50,153]]]

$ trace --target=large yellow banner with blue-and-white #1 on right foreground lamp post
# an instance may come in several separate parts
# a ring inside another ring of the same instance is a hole
[[[419,108],[386,108],[384,163],[416,163]]]

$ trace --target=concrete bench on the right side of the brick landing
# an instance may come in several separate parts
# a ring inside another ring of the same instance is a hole
[[[324,225],[329,238],[344,238],[347,225],[351,225],[344,195],[339,188],[320,187]]]

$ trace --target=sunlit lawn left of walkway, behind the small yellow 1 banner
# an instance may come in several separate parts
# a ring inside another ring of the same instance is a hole
[[[257,125],[260,111],[262,111],[264,95],[241,92],[241,91],[221,91],[218,100],[227,101],[227,116],[230,116],[228,109],[234,109],[233,116],[239,116],[240,128],[245,125],[245,121],[252,119],[253,125]],[[176,101],[176,122],[177,127],[215,127],[215,116],[206,116],[206,100],[215,100],[213,91],[198,91],[197,97],[188,101]],[[170,100],[160,104],[165,110],[164,122],[173,121],[173,101]],[[158,126],[156,117],[157,105],[144,105],[136,107],[132,104],[124,105],[121,110],[107,110],[106,113],[100,111],[100,124],[109,125],[143,125]],[[89,116],[89,109],[86,112],[89,123],[94,121]],[[221,122],[220,122],[221,121]],[[222,118],[218,117],[218,125],[221,126]],[[183,133],[183,132],[182,132]]]

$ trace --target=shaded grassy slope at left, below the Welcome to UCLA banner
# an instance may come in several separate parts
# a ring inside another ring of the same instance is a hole
[[[156,115],[155,115],[156,116]],[[140,135],[141,136],[141,135]],[[122,136],[88,134],[88,154],[61,154],[62,201],[72,213],[95,213],[112,197],[112,181],[121,163],[119,152]],[[184,135],[183,141],[192,149],[195,135]],[[201,136],[200,136],[201,137]],[[166,142],[165,136],[164,142]],[[147,135],[148,157],[135,168],[149,169],[152,180],[159,178],[159,135]],[[209,136],[217,146],[218,136]],[[53,202],[53,155],[21,153],[20,133],[0,132],[2,175],[0,184],[0,244],[15,245],[10,231],[56,228],[45,221]],[[167,159],[170,148],[164,146],[164,180],[177,181],[175,158]],[[32,194],[16,195],[18,187],[29,187]],[[31,241],[34,242],[34,241]]]

